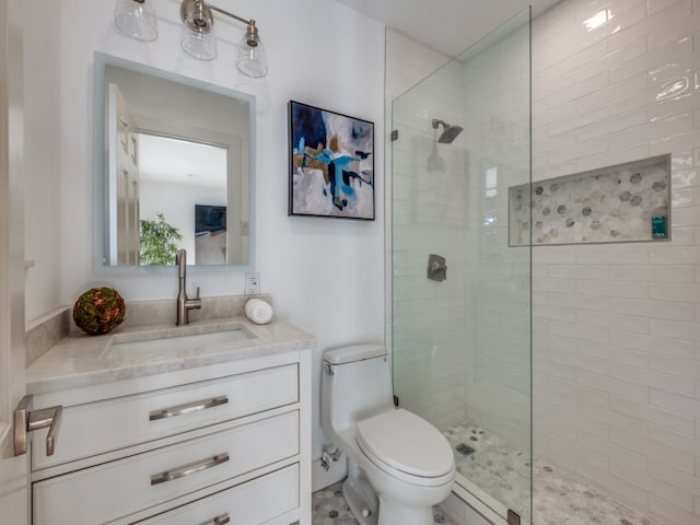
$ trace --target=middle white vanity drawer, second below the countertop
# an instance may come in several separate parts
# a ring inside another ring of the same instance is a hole
[[[34,525],[94,525],[299,454],[299,411],[35,482]]]

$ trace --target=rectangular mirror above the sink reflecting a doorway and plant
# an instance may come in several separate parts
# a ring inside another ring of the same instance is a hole
[[[95,54],[101,265],[252,266],[255,100]]]

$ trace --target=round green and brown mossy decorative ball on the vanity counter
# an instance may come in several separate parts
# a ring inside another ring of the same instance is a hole
[[[124,299],[113,288],[91,288],[73,305],[73,320],[91,335],[107,334],[124,320]]]

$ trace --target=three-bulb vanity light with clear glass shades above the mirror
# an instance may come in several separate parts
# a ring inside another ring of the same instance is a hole
[[[267,55],[255,20],[244,19],[203,0],[183,0],[179,7],[183,21],[180,46],[185,52],[199,60],[217,58],[214,11],[246,24],[236,56],[238,71],[247,77],[265,77]],[[154,40],[158,37],[155,13],[149,0],[118,0],[115,23],[120,33],[131,38]]]

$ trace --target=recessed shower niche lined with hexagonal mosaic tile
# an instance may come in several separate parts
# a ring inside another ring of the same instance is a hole
[[[670,238],[670,155],[509,188],[510,246]]]

